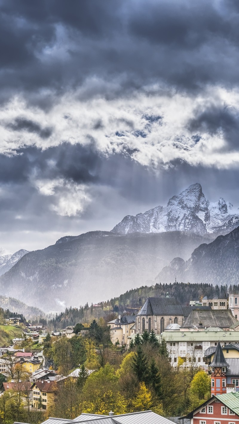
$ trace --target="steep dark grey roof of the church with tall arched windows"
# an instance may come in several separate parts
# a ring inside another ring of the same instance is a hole
[[[138,315],[183,315],[183,308],[174,297],[148,297]]]

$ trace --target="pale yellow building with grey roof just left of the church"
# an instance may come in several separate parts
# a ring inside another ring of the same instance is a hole
[[[136,315],[125,315],[121,318],[109,321],[110,325],[111,342],[119,342],[120,346],[128,343],[128,337],[135,333]]]

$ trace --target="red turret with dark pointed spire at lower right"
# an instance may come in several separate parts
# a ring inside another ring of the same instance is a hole
[[[229,364],[225,361],[220,342],[218,342],[214,358],[208,365],[208,371],[211,370],[211,396],[227,392],[226,372],[228,367]]]

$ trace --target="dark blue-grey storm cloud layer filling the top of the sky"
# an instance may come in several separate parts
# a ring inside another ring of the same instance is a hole
[[[153,81],[231,86],[239,67],[236,8],[201,0],[2,0],[2,95],[46,87],[60,94],[93,75],[120,78],[121,94]]]

